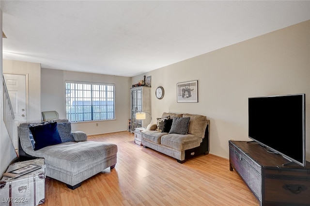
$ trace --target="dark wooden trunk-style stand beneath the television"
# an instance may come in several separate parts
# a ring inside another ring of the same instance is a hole
[[[310,206],[310,162],[282,166],[288,160],[281,155],[245,141],[229,141],[229,162],[260,206]]]

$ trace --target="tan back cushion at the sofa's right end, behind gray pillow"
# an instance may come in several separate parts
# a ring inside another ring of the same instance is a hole
[[[199,114],[183,114],[183,117],[190,117],[187,133],[204,138],[204,132],[208,124],[207,117]]]

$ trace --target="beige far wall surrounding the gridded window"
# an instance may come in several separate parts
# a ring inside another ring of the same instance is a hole
[[[126,130],[130,118],[131,78],[42,68],[41,79],[42,111],[58,111],[60,118],[66,118],[65,80],[114,83],[115,120],[72,123],[72,130],[81,130],[87,135]]]

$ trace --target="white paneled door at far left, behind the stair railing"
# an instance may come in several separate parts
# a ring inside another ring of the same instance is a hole
[[[14,147],[18,149],[17,126],[27,121],[26,75],[3,74],[3,76],[15,115],[16,132],[12,139]]]

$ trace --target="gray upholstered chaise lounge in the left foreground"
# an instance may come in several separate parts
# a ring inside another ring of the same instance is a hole
[[[57,124],[68,123],[67,119],[55,120]],[[46,124],[44,122],[39,124]],[[38,150],[31,146],[30,123],[20,124],[20,155],[45,158],[46,175],[67,184],[74,190],[81,182],[106,168],[113,169],[117,161],[117,145],[87,141],[84,132],[72,132],[73,141],[49,145]],[[61,130],[60,130],[61,133]],[[71,133],[71,125],[70,125]]]

